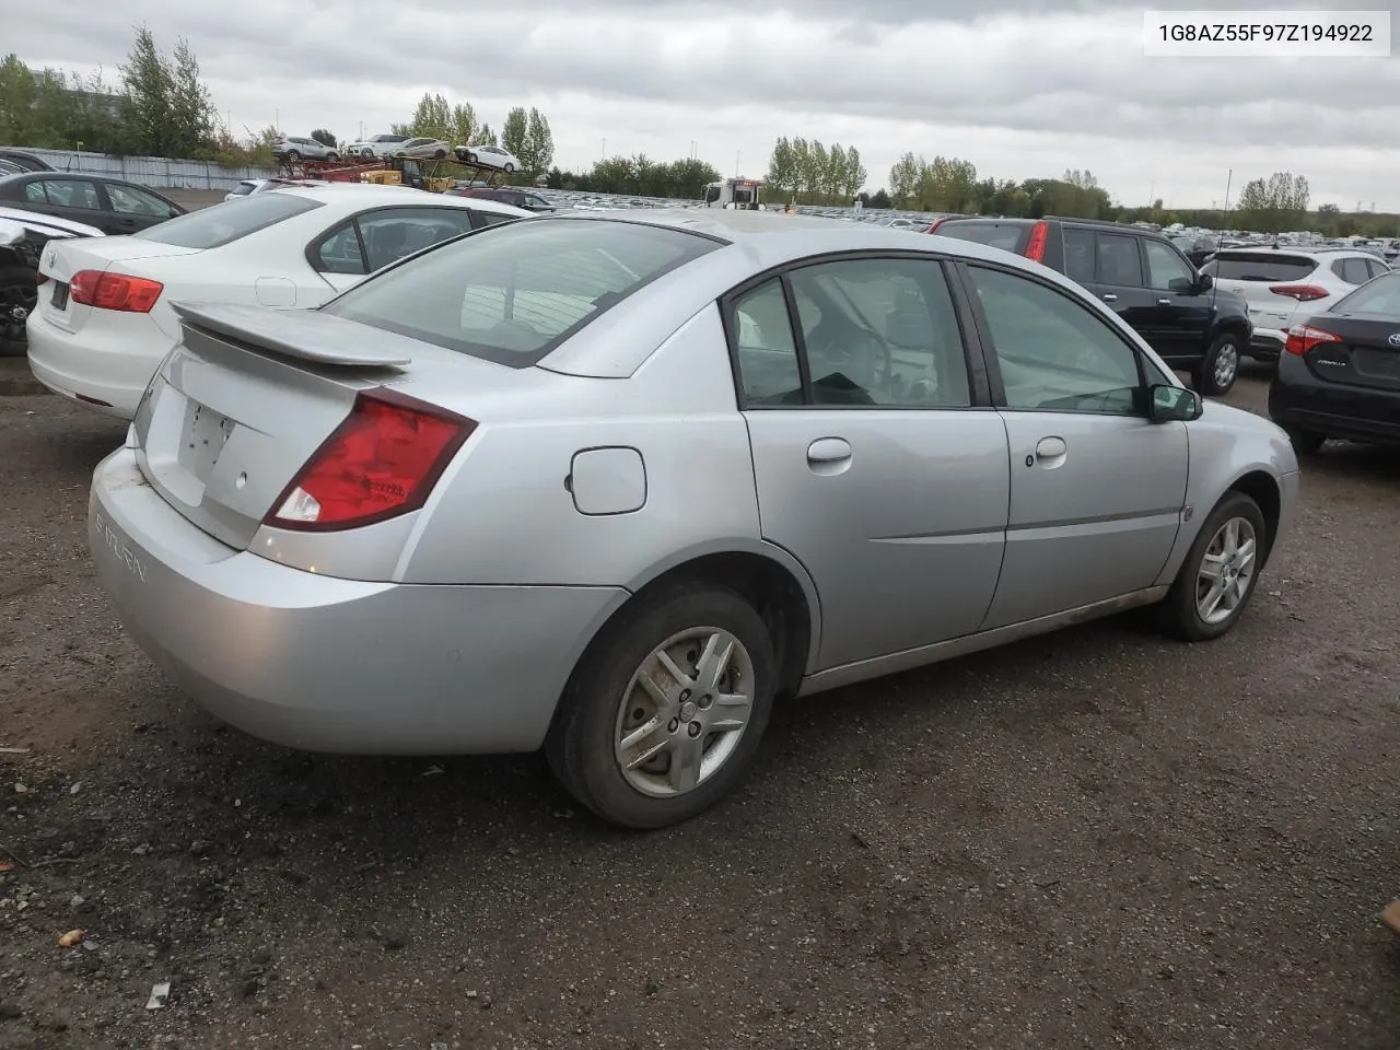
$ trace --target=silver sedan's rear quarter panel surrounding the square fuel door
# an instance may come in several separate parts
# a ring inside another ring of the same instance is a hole
[[[634,589],[687,557],[762,547],[717,305],[631,378],[539,377],[547,393],[483,421],[442,476],[396,578]],[[469,392],[461,407],[473,413]],[[641,454],[645,501],[633,512],[581,514],[566,486],[573,456],[606,447]]]

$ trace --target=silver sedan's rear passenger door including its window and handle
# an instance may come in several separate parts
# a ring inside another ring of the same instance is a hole
[[[727,309],[763,538],[816,585],[818,668],[972,633],[1001,567],[1007,434],[974,406],[942,265],[820,262]]]

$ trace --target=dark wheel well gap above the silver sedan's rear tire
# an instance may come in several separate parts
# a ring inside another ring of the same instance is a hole
[[[797,692],[806,671],[812,641],[812,610],[797,578],[777,561],[748,552],[704,554],[668,568],[643,587],[648,594],[676,580],[717,584],[739,594],[755,608],[769,627],[773,655],[778,668],[777,694]],[[626,608],[626,605],[623,606]]]

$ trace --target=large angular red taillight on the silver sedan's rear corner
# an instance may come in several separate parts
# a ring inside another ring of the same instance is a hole
[[[473,420],[395,391],[360,393],[266,524],[325,532],[416,511],[473,430]]]

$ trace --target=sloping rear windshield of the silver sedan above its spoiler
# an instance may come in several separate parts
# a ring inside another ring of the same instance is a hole
[[[392,266],[325,311],[524,368],[638,288],[717,246],[638,223],[501,223]]]

